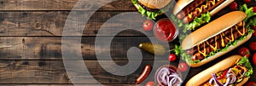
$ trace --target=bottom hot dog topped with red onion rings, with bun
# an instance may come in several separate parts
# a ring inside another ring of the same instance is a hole
[[[186,86],[241,86],[252,74],[247,57],[232,55],[191,77]]]

